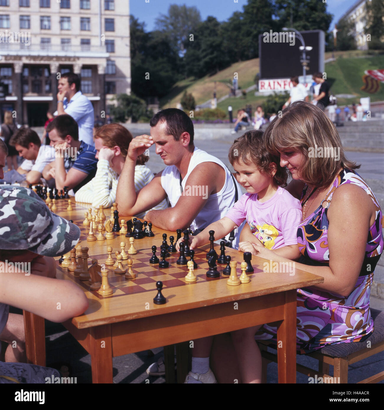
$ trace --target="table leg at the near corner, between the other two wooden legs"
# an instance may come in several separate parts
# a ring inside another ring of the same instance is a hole
[[[113,383],[110,325],[90,328],[92,383]]]

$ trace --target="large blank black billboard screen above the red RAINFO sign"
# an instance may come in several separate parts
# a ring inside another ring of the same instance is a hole
[[[288,35],[290,33],[290,35]],[[268,34],[268,35],[267,35]],[[325,35],[322,30],[302,31],[306,46],[313,47],[306,51],[309,57],[307,75],[324,71]],[[303,75],[301,41],[292,32],[267,32],[259,36],[260,79],[290,78]]]

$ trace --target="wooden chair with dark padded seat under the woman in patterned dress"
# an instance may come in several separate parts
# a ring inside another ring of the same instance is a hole
[[[371,308],[371,316],[374,322],[374,330],[368,339],[364,342],[329,344],[317,350],[314,353],[308,353],[308,356],[319,361],[319,370],[310,369],[309,367],[297,364],[296,369],[302,374],[317,379],[322,377],[324,383],[338,380],[337,383],[348,383],[348,365],[359,362],[376,353],[384,351],[384,312]],[[270,362],[277,363],[277,355],[267,351],[268,341],[258,340],[262,354],[262,382],[267,381],[267,364]],[[275,348],[271,345],[270,347]],[[329,365],[333,366],[333,376],[329,375]],[[336,378],[336,379],[335,379]],[[340,379],[338,379],[340,378]],[[384,371],[374,376],[368,377],[358,383],[378,383],[384,380]]]

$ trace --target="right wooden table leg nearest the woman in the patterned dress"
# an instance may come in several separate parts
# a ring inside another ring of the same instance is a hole
[[[296,383],[296,290],[285,292],[284,320],[277,329],[278,382]]]

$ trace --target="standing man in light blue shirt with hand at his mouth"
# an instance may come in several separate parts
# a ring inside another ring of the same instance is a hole
[[[80,91],[80,78],[74,73],[61,75],[57,85],[57,112],[55,115],[69,114],[78,123],[79,141],[94,145],[93,105]]]

